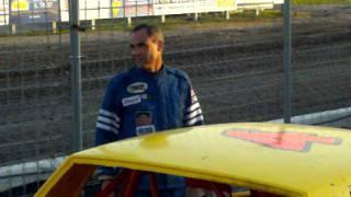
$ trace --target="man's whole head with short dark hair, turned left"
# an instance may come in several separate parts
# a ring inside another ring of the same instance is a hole
[[[162,66],[163,34],[152,25],[140,24],[131,32],[131,50],[141,68],[157,72]]]

